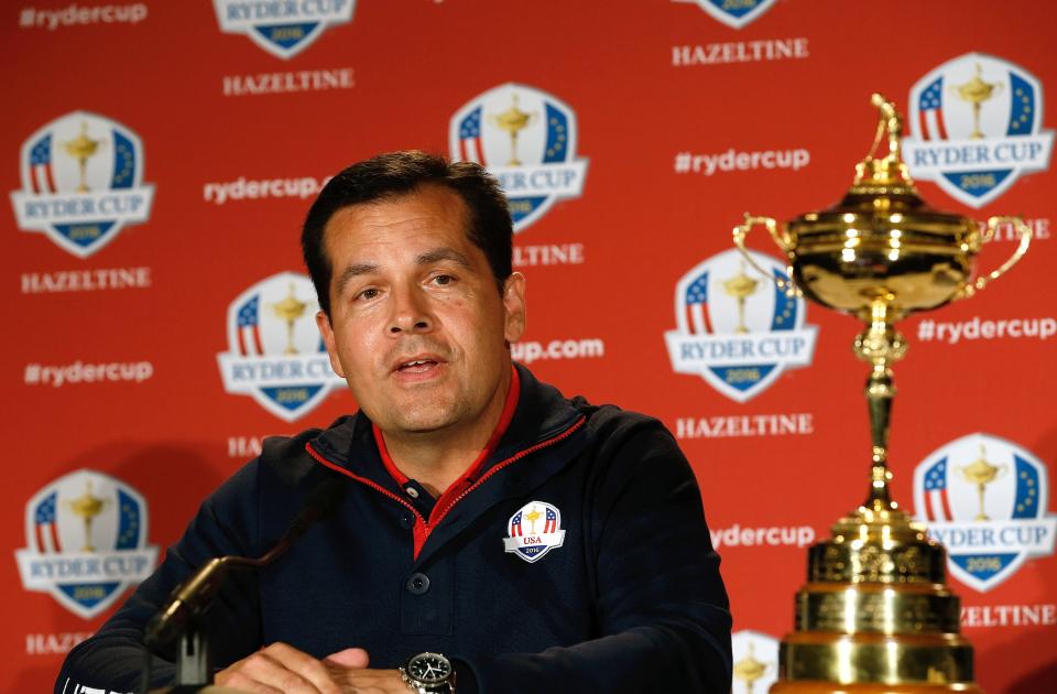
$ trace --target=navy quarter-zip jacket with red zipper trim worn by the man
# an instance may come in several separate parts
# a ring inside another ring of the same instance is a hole
[[[729,692],[719,557],[675,440],[656,420],[566,400],[517,369],[505,434],[476,482],[432,513],[386,471],[362,412],[268,440],[69,653],[56,694],[72,684],[137,690],[144,627],[172,588],[214,556],[266,552],[335,475],[348,488],[329,519],[271,566],[230,576],[208,614],[218,668],[283,641],[317,658],[362,647],[374,668],[445,653],[458,694]],[[515,520],[527,527],[514,516],[534,501],[558,511],[565,534],[528,562],[504,539]],[[154,658],[153,686],[173,681],[173,661]]]

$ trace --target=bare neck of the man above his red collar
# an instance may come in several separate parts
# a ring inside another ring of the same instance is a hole
[[[438,498],[468,471],[489,444],[502,419],[510,388],[508,371],[488,408],[473,422],[462,426],[396,435],[382,432],[393,465]]]

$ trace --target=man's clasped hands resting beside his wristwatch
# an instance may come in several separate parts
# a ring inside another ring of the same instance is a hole
[[[217,673],[217,686],[253,694],[405,694],[396,670],[368,670],[367,651],[349,648],[316,660],[272,643]]]

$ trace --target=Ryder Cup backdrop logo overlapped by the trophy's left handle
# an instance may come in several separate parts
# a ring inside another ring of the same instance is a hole
[[[759,395],[787,368],[815,354],[818,328],[805,325],[803,299],[787,296],[772,278],[786,279],[776,259],[749,251],[771,276],[737,249],[712,256],[675,288],[676,329],[664,334],[676,373],[694,373],[738,402]]]

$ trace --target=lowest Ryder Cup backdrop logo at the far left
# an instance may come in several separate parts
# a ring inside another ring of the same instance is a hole
[[[157,562],[157,547],[146,544],[143,497],[92,470],[61,477],[30,499],[25,542],[15,552],[22,586],[51,593],[85,619],[150,576]]]

